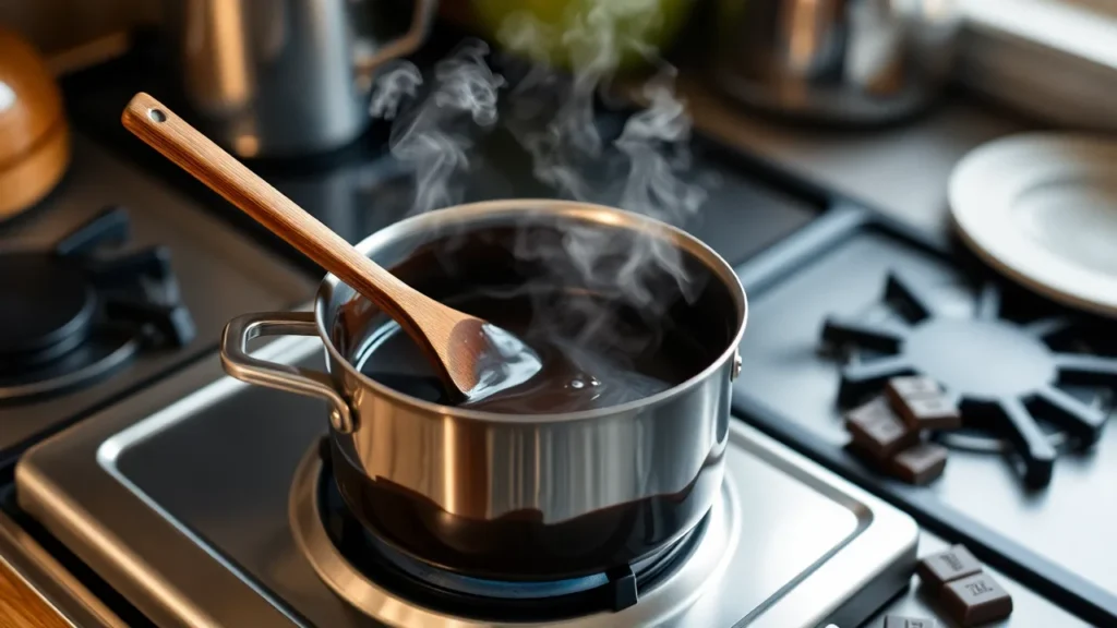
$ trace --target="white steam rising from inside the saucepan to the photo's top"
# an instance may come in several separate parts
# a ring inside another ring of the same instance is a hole
[[[500,126],[532,160],[535,178],[560,196],[684,225],[705,202],[706,192],[686,178],[691,126],[675,94],[675,69],[640,42],[656,26],[653,2],[596,0],[572,16],[561,31],[528,13],[510,17],[498,34],[510,53],[502,59],[507,76],[515,77],[510,80],[489,68],[489,50],[480,41],[467,41],[440,61],[427,86],[410,64],[383,73],[374,87],[371,114],[394,120],[391,152],[416,177],[412,211],[460,202],[462,187],[456,175],[468,171],[476,139],[491,132],[500,117]],[[554,46],[556,41],[560,46]],[[556,48],[570,61],[569,75],[523,60],[546,59]],[[643,56],[659,69],[642,87],[647,106],[629,116],[610,139],[598,127],[594,105],[624,55]],[[561,238],[547,238],[523,229],[515,254],[518,259],[546,261],[541,266],[553,276],[543,279],[621,297],[648,318],[661,316],[670,305],[665,301],[668,292],[681,292],[691,299],[700,287],[693,285],[679,250],[651,235],[618,238],[600,229],[575,227],[564,228]],[[551,264],[555,260],[563,263]],[[674,286],[665,286],[665,277]],[[531,292],[532,286],[525,289]],[[612,377],[630,365],[602,362],[591,368],[589,362],[601,359],[584,351],[585,346],[619,355],[660,342],[645,332],[639,337],[626,334],[618,311],[600,299],[536,305],[533,331],[564,339],[560,351],[571,362],[586,365],[586,372],[604,371]],[[626,377],[641,375],[628,372]],[[627,392],[620,393],[626,399],[659,389],[646,380],[628,384],[621,387]]]

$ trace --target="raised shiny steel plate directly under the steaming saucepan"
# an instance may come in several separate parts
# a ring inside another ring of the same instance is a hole
[[[313,339],[256,353],[300,368],[321,355]],[[221,377],[214,356],[32,449],[20,505],[160,626],[379,626],[318,578],[287,516],[325,416],[322,401]],[[717,567],[676,575],[698,589],[667,581],[628,615],[574,625],[853,627],[907,581],[918,534],[907,515],[739,421],[726,474],[727,530],[707,531],[722,539],[714,552],[699,548]],[[484,625],[421,612],[428,627]]]

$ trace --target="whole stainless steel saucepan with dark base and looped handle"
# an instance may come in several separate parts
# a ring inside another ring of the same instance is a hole
[[[388,320],[332,275],[313,313],[231,321],[221,358],[237,379],[330,402],[334,478],[350,510],[381,540],[445,569],[538,580],[647,558],[706,514],[723,477],[747,306],[733,269],[697,239],[586,203],[459,206],[392,225],[357,248],[400,273],[417,250],[450,242],[445,265],[458,269],[479,257],[462,241],[527,226],[558,235],[594,229],[611,239],[653,238],[676,247],[690,285],[700,286],[693,301],[678,302],[690,317],[679,320],[694,323],[695,337],[716,358],[669,390],[592,411],[514,416],[441,406],[354,368]],[[429,276],[400,277],[420,289],[433,285]],[[317,335],[328,373],[252,358],[246,343],[264,335]]]

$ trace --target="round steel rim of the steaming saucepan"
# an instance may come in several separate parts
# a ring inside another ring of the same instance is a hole
[[[733,340],[716,359],[710,361],[709,365],[701,370],[701,372],[662,392],[637,399],[634,401],[629,401],[627,403],[596,408],[593,410],[545,415],[515,415],[459,408],[456,406],[446,406],[418,399],[384,386],[359,371],[341,354],[341,352],[337,351],[337,348],[334,346],[334,343],[330,337],[328,327],[326,321],[324,320],[326,310],[328,310],[330,299],[334,292],[338,288],[338,285],[342,284],[341,279],[331,273],[322,279],[314,298],[315,326],[317,327],[319,339],[326,346],[326,351],[330,354],[331,360],[334,363],[340,364],[342,369],[345,369],[349,375],[356,378],[356,380],[361,382],[362,387],[372,389],[378,394],[382,394],[395,402],[426,410],[435,416],[486,422],[532,425],[598,419],[602,417],[624,415],[634,410],[642,410],[658,406],[659,403],[666,402],[675,397],[678,397],[680,393],[699,386],[736,355],[738,345],[741,344],[741,339],[745,332],[745,326],[748,322],[748,299],[736,273],[733,272],[733,268],[720,255],[698,238],[677,227],[640,213],[603,204],[555,199],[506,199],[479,201],[448,207],[445,209],[437,209],[405,218],[399,222],[389,225],[388,227],[384,227],[383,229],[380,229],[361,240],[361,242],[356,245],[356,249],[362,255],[369,256],[370,251],[388,246],[392,242],[400,241],[409,236],[421,235],[424,231],[433,231],[438,228],[445,228],[447,225],[462,222],[468,225],[470,219],[485,217],[496,218],[514,212],[541,212],[544,215],[572,218],[591,223],[638,229],[650,234],[652,237],[669,238],[671,244],[678,246],[705,264],[706,267],[710,269],[713,274],[728,288],[732,294],[734,305],[737,308],[737,329],[734,333]],[[349,402],[349,400],[346,400],[346,402]]]

